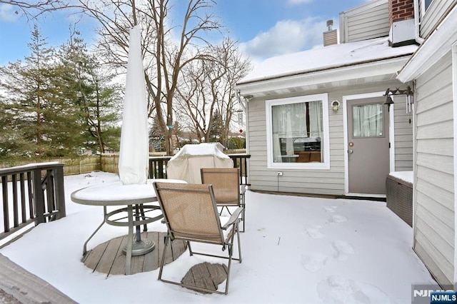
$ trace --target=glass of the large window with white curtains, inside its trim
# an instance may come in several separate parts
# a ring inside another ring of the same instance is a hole
[[[273,163],[323,163],[322,101],[271,106]]]

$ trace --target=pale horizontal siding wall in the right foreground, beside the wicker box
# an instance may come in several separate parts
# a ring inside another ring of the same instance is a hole
[[[435,3],[436,1],[433,1]],[[451,52],[416,79],[413,249],[441,285],[454,275]]]

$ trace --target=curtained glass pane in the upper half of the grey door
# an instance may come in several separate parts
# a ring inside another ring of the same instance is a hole
[[[353,137],[383,137],[383,105],[364,104],[352,107]]]

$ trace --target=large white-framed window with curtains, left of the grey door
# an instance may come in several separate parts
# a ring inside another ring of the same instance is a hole
[[[268,168],[329,169],[327,94],[266,101]]]

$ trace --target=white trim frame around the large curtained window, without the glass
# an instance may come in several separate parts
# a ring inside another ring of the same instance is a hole
[[[271,106],[278,106],[288,103],[302,103],[306,101],[322,101],[322,124],[323,138],[323,163],[273,163],[273,141],[271,128]],[[266,104],[266,158],[268,169],[298,169],[298,170],[330,170],[330,131],[328,128],[328,94],[315,94],[306,96],[296,96],[289,98],[270,99]]]

